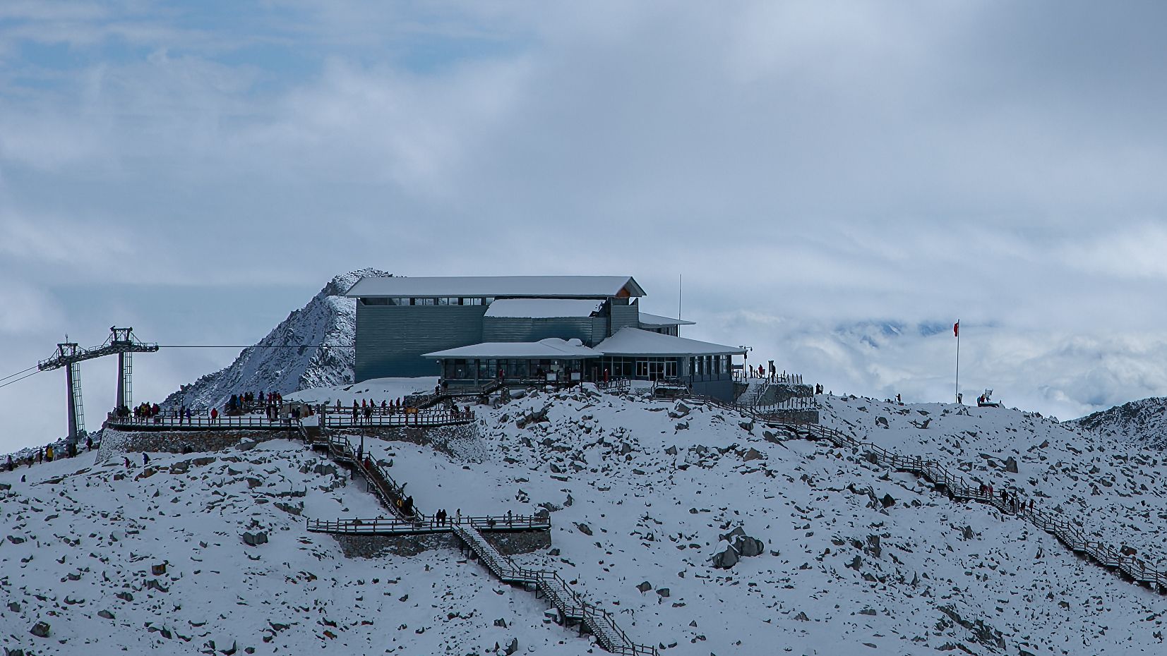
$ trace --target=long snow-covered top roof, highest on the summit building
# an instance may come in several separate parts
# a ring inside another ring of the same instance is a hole
[[[349,297],[536,296],[550,298],[607,298],[644,296],[631,276],[443,276],[363,277]]]

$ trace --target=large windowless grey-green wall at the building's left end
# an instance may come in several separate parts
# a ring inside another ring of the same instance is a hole
[[[362,305],[357,302],[356,380],[433,376],[422,353],[478,344],[485,305]]]

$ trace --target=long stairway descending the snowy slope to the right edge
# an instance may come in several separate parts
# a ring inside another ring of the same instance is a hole
[[[741,412],[757,421],[767,423],[769,426],[784,430],[796,437],[805,439],[825,439],[839,449],[853,449],[866,453],[873,464],[886,465],[893,470],[914,473],[932,485],[936,489],[945,493],[955,501],[977,501],[990,505],[1002,514],[1015,515],[1037,527],[1039,529],[1055,536],[1075,553],[1085,553],[1098,565],[1117,571],[1120,576],[1133,583],[1145,585],[1160,593],[1167,593],[1167,570],[1134,555],[1125,555],[1119,549],[1105,544],[1100,541],[1090,539],[1082,530],[1082,527],[1067,519],[1061,513],[1044,509],[1036,503],[1033,509],[1014,507],[1006,503],[999,496],[983,494],[980,486],[974,486],[964,477],[952,473],[948,467],[937,460],[928,460],[916,456],[903,456],[882,446],[862,442],[836,429],[823,425],[797,424],[785,421],[773,421],[766,412],[755,412],[752,408],[724,403],[711,398],[701,401],[714,405]]]

